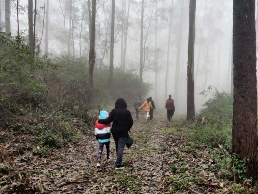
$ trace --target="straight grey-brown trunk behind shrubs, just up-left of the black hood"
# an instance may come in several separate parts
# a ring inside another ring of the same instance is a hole
[[[113,86],[113,68],[114,68],[114,29],[115,29],[115,0],[112,0],[111,12],[111,38],[110,38],[110,61],[109,61],[109,89],[112,90]]]

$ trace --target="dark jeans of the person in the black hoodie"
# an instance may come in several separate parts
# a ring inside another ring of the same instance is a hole
[[[116,164],[121,165],[123,161],[124,146],[127,141],[127,136],[112,134],[116,144]]]

